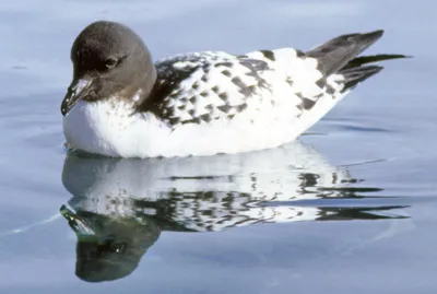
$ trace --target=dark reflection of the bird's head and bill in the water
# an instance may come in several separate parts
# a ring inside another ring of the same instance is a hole
[[[161,233],[157,224],[146,217],[123,219],[84,210],[73,213],[66,207],[61,214],[78,235],[75,272],[88,282],[130,274]]]

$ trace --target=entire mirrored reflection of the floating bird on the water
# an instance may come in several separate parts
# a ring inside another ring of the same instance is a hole
[[[76,275],[90,282],[130,274],[162,231],[403,217],[393,211],[400,205],[363,205],[364,193],[380,189],[357,187],[362,180],[299,142],[213,157],[69,153],[62,181],[73,196],[61,213],[78,236]]]

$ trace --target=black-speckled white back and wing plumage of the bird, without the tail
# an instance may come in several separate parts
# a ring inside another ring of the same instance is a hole
[[[300,91],[284,91],[282,97],[273,92],[272,87],[292,86],[296,80],[303,80],[293,74],[277,73],[284,59],[296,67],[312,68],[316,81],[310,83],[314,83],[314,89],[307,85]],[[343,87],[342,77],[322,79],[322,74],[316,72],[317,66],[315,59],[300,56],[292,48],[259,50],[245,56],[222,51],[180,55],[155,63],[157,86],[153,94],[154,103],[145,101],[139,109],[154,111],[172,128],[233,119],[244,111],[251,113],[253,120],[259,111],[276,107],[276,102],[281,101],[291,107],[290,116],[299,117],[327,95],[335,99],[335,94],[340,94]]]

